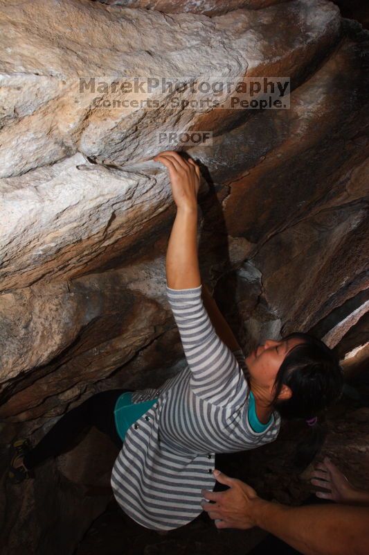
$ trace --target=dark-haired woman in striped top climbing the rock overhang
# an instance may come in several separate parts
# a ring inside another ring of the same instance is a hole
[[[201,513],[201,490],[215,486],[216,453],[273,441],[281,417],[307,420],[316,435],[318,413],[339,397],[343,376],[332,351],[308,334],[266,341],[244,358],[201,286],[199,167],[173,151],[154,160],[168,169],[177,205],[166,258],[167,293],[188,366],[158,389],[93,395],[62,416],[33,449],[22,441],[13,446],[10,472],[15,481],[28,477],[82,427],[94,424],[120,449],[111,474],[118,504],[144,527],[170,530]],[[311,447],[316,451],[317,445]]]

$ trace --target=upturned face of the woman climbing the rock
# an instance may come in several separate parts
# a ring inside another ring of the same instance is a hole
[[[259,345],[245,359],[253,382],[272,391],[280,365],[289,351],[301,343],[305,341],[298,337],[291,337],[281,341],[268,339],[264,345]]]

